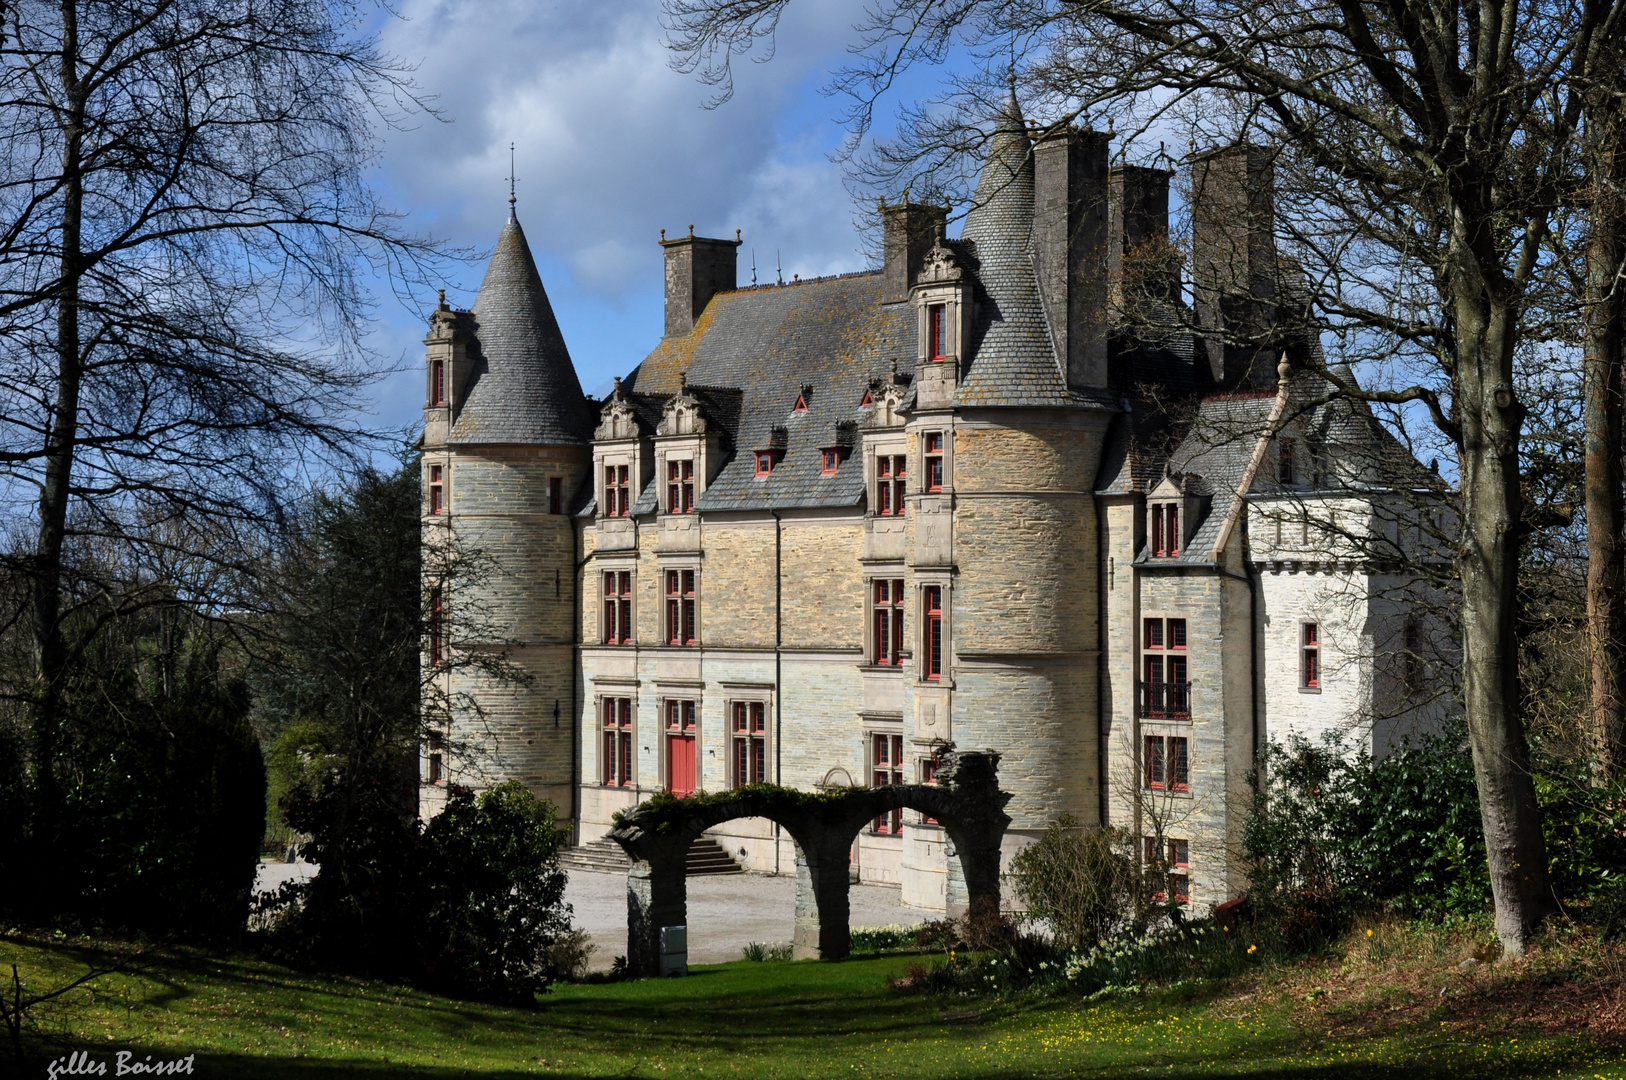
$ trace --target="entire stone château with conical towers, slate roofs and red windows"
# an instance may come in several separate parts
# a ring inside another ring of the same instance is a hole
[[[1428,605],[1366,543],[1374,499],[1426,475],[1325,405],[1314,340],[1272,384],[1202,340],[1179,281],[1145,333],[1124,267],[1169,244],[1169,174],[1109,171],[1106,145],[1034,150],[1011,102],[963,236],[886,207],[873,273],[741,290],[738,237],[663,241],[667,335],[597,403],[511,221],[475,309],[426,343],[426,543],[489,571],[444,586],[426,813],[447,781],[515,776],[585,843],[659,790],[930,784],[945,748],[992,750],[1006,857],[1062,813],[1122,826],[1205,906],[1246,888],[1267,740],[1382,753],[1436,721],[1393,659]],[[1254,288],[1263,317],[1286,294],[1247,189],[1268,159],[1206,161],[1215,205],[1254,213],[1198,236],[1205,303]],[[463,664],[481,651],[522,678]],[[709,834],[750,870],[797,865],[767,818]],[[953,901],[920,812],[881,815],[850,867]]]

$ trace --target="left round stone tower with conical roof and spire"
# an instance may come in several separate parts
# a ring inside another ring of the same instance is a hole
[[[429,319],[423,436],[424,813],[449,782],[519,779],[574,817],[571,511],[590,416],[511,213],[472,311]]]

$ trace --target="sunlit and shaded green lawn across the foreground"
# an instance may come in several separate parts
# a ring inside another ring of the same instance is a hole
[[[83,971],[68,942],[0,938],[24,987]],[[1626,1078],[1619,1049],[1415,1025],[1327,1038],[1301,1012],[1218,991],[993,1002],[896,994],[909,958],[732,963],[686,979],[564,986],[537,1010],[454,1002],[244,958],[148,956],[39,1017],[23,1075],[88,1049],[195,1054],[195,1077],[1576,1077]],[[974,1023],[954,1017],[977,1013]],[[945,1017],[945,1013],[950,1013]],[[3,1049],[3,1047],[0,1047]],[[3,1072],[3,1069],[0,1069]]]

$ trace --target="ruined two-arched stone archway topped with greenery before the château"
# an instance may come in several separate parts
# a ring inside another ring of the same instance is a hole
[[[847,854],[868,821],[906,808],[933,817],[950,838],[950,914],[998,911],[1000,841],[1010,826],[998,786],[1000,755],[945,750],[935,784],[803,792],[753,784],[715,795],[657,795],[616,815],[610,839],[633,867],[626,875],[626,961],[655,974],[660,929],[688,925],[685,865],[701,833],[733,818],[767,818],[797,846],[795,956],[839,960],[850,952]]]

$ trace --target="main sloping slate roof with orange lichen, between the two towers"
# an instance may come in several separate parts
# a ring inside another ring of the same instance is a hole
[[[694,329],[665,338],[624,381],[634,394],[672,395],[680,376],[702,412],[725,431],[727,462],[698,501],[701,511],[857,506],[863,460],[852,454],[834,477],[820,475],[820,451],[854,434],[872,381],[914,371],[914,309],[881,303],[880,272],[719,293]],[[724,408],[722,389],[733,392]],[[806,390],[806,412],[793,412]],[[715,397],[711,400],[707,395]],[[732,410],[732,412],[730,412]],[[756,477],[753,451],[784,428],[784,455]],[[654,491],[639,507],[654,509]]]

